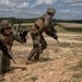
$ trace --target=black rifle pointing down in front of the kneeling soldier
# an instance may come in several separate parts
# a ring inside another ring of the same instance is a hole
[[[3,55],[7,55],[15,63],[13,58],[10,56],[7,46],[3,44],[1,39],[0,39],[0,50],[2,50]]]

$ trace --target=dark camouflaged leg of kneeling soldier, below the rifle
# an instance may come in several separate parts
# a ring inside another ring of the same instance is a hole
[[[10,71],[10,58],[7,57],[5,55],[2,58],[2,71],[8,72]]]

